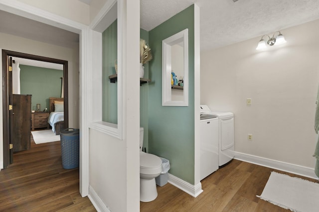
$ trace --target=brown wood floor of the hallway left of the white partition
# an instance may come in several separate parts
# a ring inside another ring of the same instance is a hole
[[[0,171],[0,212],[95,212],[79,192],[79,169],[63,169],[60,141],[14,153]]]

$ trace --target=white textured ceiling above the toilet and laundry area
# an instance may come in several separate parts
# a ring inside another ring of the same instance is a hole
[[[319,18],[319,0],[141,0],[141,28],[149,31],[194,2],[200,7],[201,51]]]

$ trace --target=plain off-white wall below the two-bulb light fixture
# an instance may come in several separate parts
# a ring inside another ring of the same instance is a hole
[[[201,52],[201,104],[234,112],[235,151],[314,168],[318,25],[281,30],[287,43],[265,51],[258,37]]]

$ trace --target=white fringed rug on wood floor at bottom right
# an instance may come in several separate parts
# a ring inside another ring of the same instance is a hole
[[[257,196],[293,212],[319,212],[319,184],[272,172],[263,193]]]

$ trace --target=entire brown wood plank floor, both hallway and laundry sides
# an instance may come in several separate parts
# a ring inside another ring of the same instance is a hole
[[[155,201],[140,203],[141,212],[290,212],[256,197],[271,171],[233,160],[201,181],[204,192],[197,198],[166,184]],[[35,144],[31,135],[31,149],[15,153],[14,163],[0,171],[0,212],[26,211],[96,211],[80,196],[79,170],[62,168],[59,141]]]

